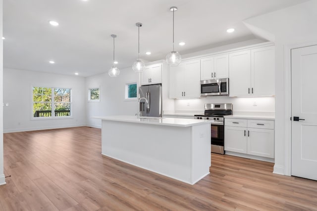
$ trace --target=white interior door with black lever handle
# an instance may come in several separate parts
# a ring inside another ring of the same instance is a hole
[[[291,174],[317,180],[317,45],[292,49],[291,59]]]

